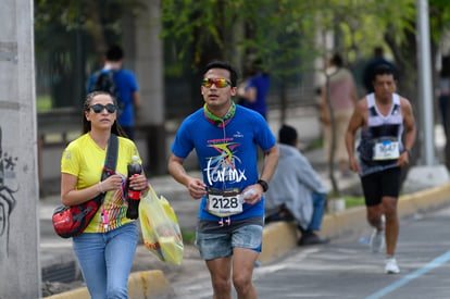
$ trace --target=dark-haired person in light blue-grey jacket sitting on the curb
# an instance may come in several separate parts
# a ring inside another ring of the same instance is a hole
[[[317,232],[328,190],[297,145],[297,130],[283,125],[278,132],[278,166],[266,192],[265,223],[296,221],[301,233],[299,246],[326,244],[328,239],[321,239]]]

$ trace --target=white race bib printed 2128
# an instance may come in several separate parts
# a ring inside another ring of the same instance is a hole
[[[237,188],[226,190],[210,188],[208,190],[207,210],[218,217],[242,213],[242,202]]]

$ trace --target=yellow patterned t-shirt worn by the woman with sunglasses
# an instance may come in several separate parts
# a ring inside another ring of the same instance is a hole
[[[90,137],[84,134],[65,148],[61,159],[61,173],[72,174],[78,178],[76,188],[84,189],[100,182],[107,150],[101,149]],[[86,227],[85,233],[105,233],[115,229],[125,223],[132,222],[126,217],[127,204],[124,201],[124,188],[127,177],[127,164],[132,157],[139,157],[135,142],[127,138],[118,137],[117,165],[115,173],[123,177],[122,189],[108,191],[103,198],[103,204]],[[140,158],[139,158],[140,162]],[[102,213],[105,216],[102,217]],[[108,225],[103,222],[108,221]]]

